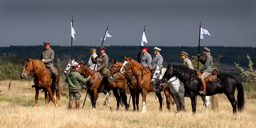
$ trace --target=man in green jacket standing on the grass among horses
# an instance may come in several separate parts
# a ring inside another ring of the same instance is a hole
[[[88,82],[91,76],[88,76],[88,78],[83,78],[78,72],[78,64],[71,64],[70,72],[68,73],[65,82],[68,83],[68,108],[72,108],[73,100],[75,97],[76,100],[76,109],[79,109],[79,101],[81,98],[81,86],[79,82]]]

